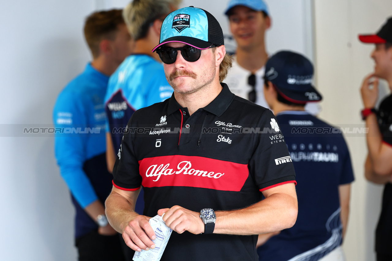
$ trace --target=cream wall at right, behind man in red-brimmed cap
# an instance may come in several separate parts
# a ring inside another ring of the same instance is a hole
[[[324,95],[321,117],[337,126],[364,127],[359,88],[372,72],[374,45],[358,41],[359,33],[374,33],[392,14],[390,0],[316,0],[316,86]],[[381,95],[387,86],[383,83]],[[367,155],[364,134],[345,135],[356,181],[352,185],[351,213],[343,248],[348,261],[373,261],[374,230],[381,206],[382,187],[363,176]]]

